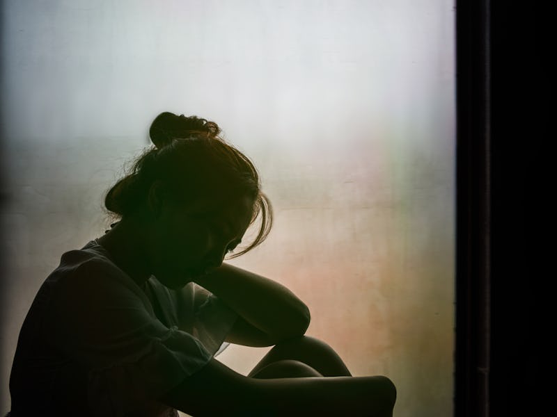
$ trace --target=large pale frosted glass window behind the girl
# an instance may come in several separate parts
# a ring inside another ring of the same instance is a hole
[[[214,120],[262,174],[274,229],[232,262],[297,293],[354,375],[391,377],[396,416],[452,414],[452,1],[2,4],[0,414],[36,291],[103,234],[162,111]]]

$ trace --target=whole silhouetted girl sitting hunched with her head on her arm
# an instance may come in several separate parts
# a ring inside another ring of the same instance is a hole
[[[65,252],[31,305],[12,417],[392,416],[388,378],[352,377],[304,336],[296,295],[223,263],[265,239],[272,209],[256,168],[219,133],[195,116],[152,122],[154,147],[106,195],[119,221]],[[227,343],[274,347],[244,376],[214,359]]]

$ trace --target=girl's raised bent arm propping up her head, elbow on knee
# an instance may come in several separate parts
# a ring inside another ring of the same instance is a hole
[[[309,325],[306,304],[272,279],[223,263],[196,282],[272,339],[301,336]]]

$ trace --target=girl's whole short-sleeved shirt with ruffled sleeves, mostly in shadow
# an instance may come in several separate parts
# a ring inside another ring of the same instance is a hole
[[[95,240],[65,252],[24,320],[14,416],[173,416],[157,399],[226,343],[237,315],[193,282],[139,286]]]

